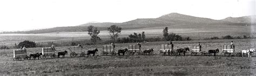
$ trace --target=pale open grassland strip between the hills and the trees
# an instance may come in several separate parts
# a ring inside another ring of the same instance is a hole
[[[194,27],[194,28],[171,28],[169,27],[170,33],[176,33],[183,37],[190,37],[193,40],[203,40],[210,37],[221,37],[226,35],[231,36],[251,36],[255,37],[256,28],[255,26],[227,26],[227,25],[214,25],[205,27]],[[140,29],[125,29],[121,32],[119,37],[128,37],[133,33],[145,32],[146,37],[162,37],[163,28],[159,27],[148,27]],[[101,31],[98,35],[102,39],[109,39],[109,33],[107,31]],[[0,45],[13,46],[15,43],[18,44],[21,41],[29,40],[35,42],[71,42],[78,40],[90,40],[90,36],[87,32],[55,32],[55,33],[43,33],[43,34],[0,34]]]

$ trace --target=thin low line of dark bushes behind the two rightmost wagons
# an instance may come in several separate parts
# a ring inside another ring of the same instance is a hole
[[[221,37],[211,37],[211,38],[206,38],[204,40],[219,40],[219,39],[250,39],[250,36],[231,36],[231,35],[226,35],[226,36],[221,36]]]

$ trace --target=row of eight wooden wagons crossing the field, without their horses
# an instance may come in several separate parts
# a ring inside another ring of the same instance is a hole
[[[69,49],[70,49],[70,57],[86,55],[86,53],[83,51],[82,47],[70,47]],[[106,55],[114,56],[117,54],[113,45],[103,45],[102,49],[103,49],[103,51],[100,52],[100,55],[102,55],[102,56],[106,56]],[[129,45],[127,50],[128,50],[127,55],[134,55],[134,54],[142,55],[143,54],[143,51],[139,45]],[[161,44],[160,51],[166,53],[169,50],[175,51],[175,50],[172,50],[171,45]],[[200,50],[201,50],[201,48],[199,48],[199,46],[193,46],[191,54],[205,53]],[[235,49],[234,49],[234,47],[232,48],[231,45],[223,45],[222,50],[223,50],[222,54],[224,54],[224,55],[235,54]],[[45,58],[54,58],[57,56],[56,54],[59,51],[60,50],[55,50],[52,48],[42,48],[42,58],[44,58],[44,59]],[[21,59],[24,59],[27,57],[28,57],[28,55],[27,55],[26,50],[14,50],[14,57],[13,57],[14,60],[21,60]]]

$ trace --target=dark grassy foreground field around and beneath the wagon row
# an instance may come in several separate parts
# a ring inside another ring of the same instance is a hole
[[[236,52],[242,49],[255,48],[255,39],[240,40],[200,40],[174,41],[174,49],[190,47],[201,42],[203,51],[221,50],[224,44],[234,41]],[[117,44],[127,48],[129,44]],[[166,42],[142,43],[142,49],[154,48],[152,56],[95,56],[70,58],[50,58],[39,60],[13,61],[12,50],[0,50],[0,74],[4,75],[255,75],[255,57],[213,56],[162,56],[160,44]],[[84,46],[86,50],[95,48],[102,51],[102,45]],[[68,47],[57,47],[68,50]],[[28,54],[41,52],[41,48],[29,48]],[[69,51],[70,52],[70,51]],[[99,52],[97,55],[99,55]],[[221,52],[221,51],[220,51]]]

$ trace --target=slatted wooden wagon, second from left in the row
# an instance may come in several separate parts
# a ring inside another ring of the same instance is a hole
[[[43,58],[54,58],[56,57],[56,52],[52,48],[42,48]]]

